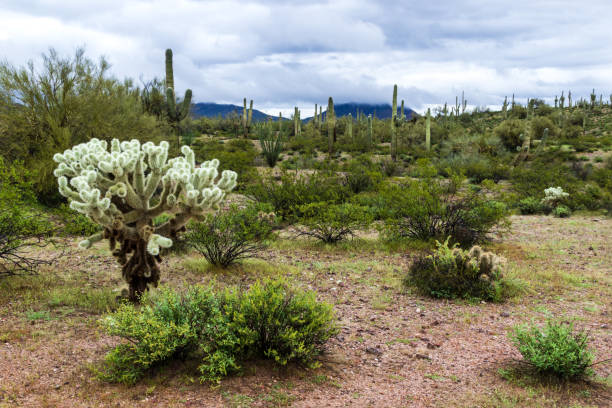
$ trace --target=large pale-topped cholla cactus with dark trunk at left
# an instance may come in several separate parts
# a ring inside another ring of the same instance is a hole
[[[106,141],[92,139],[53,157],[59,192],[70,208],[104,227],[79,245],[109,240],[132,301],[149,284],[157,286],[160,248],[170,247],[190,219],[217,209],[236,186],[235,172],[218,177],[217,159],[196,167],[193,151],[183,146],[182,157],[167,160],[168,147],[165,141],[155,146],[113,139],[109,152]],[[173,217],[154,226],[153,218],[163,213]]]

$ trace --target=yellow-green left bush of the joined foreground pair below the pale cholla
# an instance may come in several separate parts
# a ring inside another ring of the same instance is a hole
[[[215,327],[222,332],[228,326],[220,300],[210,287],[193,286],[183,296],[161,289],[157,296],[144,294],[141,303],[142,307],[124,304],[101,320],[108,334],[129,342],[106,355],[97,373],[100,379],[134,384],[155,365],[194,350],[199,338],[209,334],[206,331],[214,332]]]

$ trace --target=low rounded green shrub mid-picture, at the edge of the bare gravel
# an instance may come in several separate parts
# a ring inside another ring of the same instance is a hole
[[[307,229],[299,234],[328,244],[353,237],[356,230],[367,228],[373,220],[366,207],[349,203],[311,203],[300,207],[300,212],[303,214],[300,222]]]

